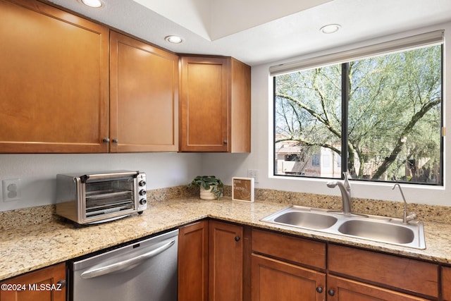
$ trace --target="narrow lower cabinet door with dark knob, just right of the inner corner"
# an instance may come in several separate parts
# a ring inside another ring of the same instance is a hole
[[[209,301],[243,300],[243,227],[210,221]]]

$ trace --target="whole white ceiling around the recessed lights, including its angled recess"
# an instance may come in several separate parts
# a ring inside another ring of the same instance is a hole
[[[49,1],[176,53],[252,66],[451,21],[450,0],[102,0],[102,8]],[[340,31],[319,31],[330,23]],[[185,42],[169,44],[167,35]]]

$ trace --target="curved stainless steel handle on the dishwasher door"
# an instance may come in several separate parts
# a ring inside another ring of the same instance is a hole
[[[84,279],[89,279],[89,278],[94,278],[94,277],[110,274],[115,271],[122,271],[122,270],[127,271],[129,269],[134,268],[138,264],[140,264],[140,262],[142,262],[146,259],[149,259],[151,257],[154,257],[154,256],[160,254],[161,252],[168,250],[174,244],[175,244],[175,240],[171,240],[170,242],[166,243],[165,245],[162,245],[161,247],[157,247],[156,249],[154,249],[150,252],[144,253],[142,255],[139,255],[137,257],[123,260],[122,262],[116,262],[114,264],[109,264],[107,266],[102,266],[97,269],[84,271],[80,275],[80,277],[84,278]]]

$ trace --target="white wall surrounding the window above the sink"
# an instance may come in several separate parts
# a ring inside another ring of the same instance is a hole
[[[445,45],[451,44],[451,23],[438,25],[434,27],[413,30],[401,34],[384,37],[382,39],[373,39],[364,43],[347,45],[322,53],[316,53],[311,56],[320,56],[347,49],[355,49],[369,44],[376,44],[391,39],[417,35],[432,30],[445,30]],[[289,61],[298,61],[307,59],[309,56],[287,59],[264,64],[261,66],[252,66],[252,153],[245,155],[224,155],[224,154],[206,154],[204,157],[204,166],[206,171],[216,173],[224,183],[230,185],[232,176],[247,176],[247,169],[259,170],[259,183],[256,188],[268,188],[295,192],[311,192],[318,194],[339,195],[338,189],[326,187],[327,180],[302,179],[302,178],[283,178],[272,176],[273,164],[273,145],[272,145],[272,79],[268,75],[270,66],[286,63]],[[451,91],[451,47],[445,46],[445,76],[444,76],[444,104],[447,103],[447,95]],[[451,121],[451,106],[445,105],[445,124]],[[451,157],[450,141],[445,139],[445,157]],[[445,158],[446,160],[446,158]],[[448,160],[449,161],[449,160]],[[451,164],[445,161],[445,185],[444,187],[434,188],[425,185],[402,185],[407,202],[419,204],[443,204],[451,206]],[[352,196],[371,199],[384,200],[402,200],[398,190],[391,190],[393,185],[376,183],[355,183],[352,182]]]

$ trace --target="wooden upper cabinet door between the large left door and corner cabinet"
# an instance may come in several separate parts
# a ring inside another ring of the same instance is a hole
[[[110,152],[178,151],[178,56],[111,32]]]

